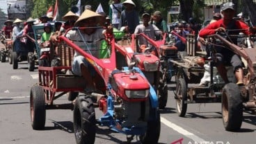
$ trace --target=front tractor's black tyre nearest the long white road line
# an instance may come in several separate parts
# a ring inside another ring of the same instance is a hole
[[[161,121],[160,113],[158,109],[151,109],[150,116],[151,120],[147,122],[147,132],[139,136],[141,143],[158,143],[160,131],[161,131]]]

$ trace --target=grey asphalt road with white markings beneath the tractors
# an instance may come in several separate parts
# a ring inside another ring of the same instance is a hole
[[[47,110],[45,130],[35,131],[29,115],[29,91],[38,82],[38,71],[29,72],[27,64],[13,70],[8,62],[0,63],[0,143],[3,144],[70,144],[75,143],[72,111]],[[176,114],[173,99],[174,84],[170,84],[166,109],[161,110],[161,136],[159,143],[240,144],[255,143],[255,115],[244,113],[239,132],[223,129],[219,103],[191,104],[185,118]],[[55,102],[67,102],[66,96]],[[97,117],[102,113],[96,111]],[[125,143],[126,136],[98,127],[95,143]],[[136,138],[132,143],[138,143]]]

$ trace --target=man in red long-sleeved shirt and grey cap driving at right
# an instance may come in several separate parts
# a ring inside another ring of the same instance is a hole
[[[238,35],[239,33],[244,33],[246,35],[250,35],[249,27],[241,21],[237,21],[233,19],[234,17],[234,3],[227,2],[224,3],[221,7],[221,14],[223,18],[215,21],[214,23],[209,24],[207,27],[200,30],[200,37],[207,37],[207,35],[213,35],[217,32],[227,32],[228,34]],[[234,29],[241,29],[235,30]],[[228,31],[233,30],[233,31]],[[232,39],[234,44],[237,44],[237,39]],[[239,55],[236,55],[234,52],[230,51],[227,48],[223,48],[222,46],[216,47],[216,58],[218,62],[216,64],[218,72],[223,78],[225,83],[228,83],[227,79],[227,71],[223,62],[230,62],[234,67],[234,74],[237,78],[237,84],[243,84],[243,64],[241,62],[241,58]]]

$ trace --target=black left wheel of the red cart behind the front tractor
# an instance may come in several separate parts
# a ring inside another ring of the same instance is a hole
[[[45,128],[45,93],[42,87],[34,86],[30,91],[30,116],[33,129]]]

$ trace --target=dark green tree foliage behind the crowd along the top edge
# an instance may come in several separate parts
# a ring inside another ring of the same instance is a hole
[[[40,17],[45,15],[50,6],[55,5],[56,1],[52,0],[26,0],[29,3],[28,14],[29,17]],[[63,17],[72,6],[77,5],[78,0],[58,0],[58,12],[60,17]],[[125,0],[121,0],[122,2]],[[155,10],[161,11],[163,18],[167,19],[168,10],[171,6],[177,6],[179,3],[181,8],[181,13],[178,19],[188,21],[190,17],[193,17],[196,21],[202,22],[203,19],[203,9],[204,0],[132,0],[136,4],[136,10],[140,15],[143,12],[148,12],[152,14]],[[253,0],[232,0],[235,4],[237,12],[243,12],[248,15],[253,21],[253,24],[256,24],[256,17],[253,17],[256,14],[255,3]],[[102,4],[102,8],[106,14],[109,14],[109,4],[112,3],[112,0],[81,0],[81,6],[90,5],[92,10],[96,10],[99,3]],[[82,8],[84,10],[84,8]]]

